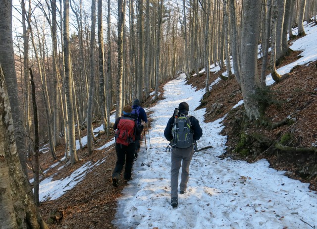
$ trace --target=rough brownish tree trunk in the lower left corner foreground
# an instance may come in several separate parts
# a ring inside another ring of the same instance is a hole
[[[3,2],[2,2],[3,3]],[[1,4],[3,7],[4,5]],[[6,229],[48,229],[22,171],[14,137],[7,86],[0,65],[0,225]]]

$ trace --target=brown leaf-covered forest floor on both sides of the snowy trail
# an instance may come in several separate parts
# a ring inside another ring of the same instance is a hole
[[[282,62],[285,65],[294,62],[299,53],[293,52]],[[263,137],[272,141],[281,138],[283,133],[290,132],[293,135],[292,144],[296,147],[310,147],[317,141],[317,65],[316,61],[307,65],[297,66],[290,76],[278,84],[269,87],[273,92],[274,100],[267,107],[265,116],[270,121],[278,122],[288,115],[296,117],[292,125],[283,125],[273,130],[263,126],[250,126],[248,132],[260,133]],[[261,67],[261,65],[260,65]],[[223,72],[223,71],[222,71]],[[220,72],[221,73],[221,72]],[[218,74],[211,73],[210,82],[218,78]],[[206,75],[192,77],[188,84],[192,84],[198,89],[205,87]],[[159,87],[160,96],[163,95],[163,84]],[[142,106],[149,108],[155,105],[150,97]],[[276,170],[288,171],[287,174],[294,179],[310,183],[312,190],[317,190],[317,175],[303,175],[303,168],[314,164],[316,166],[316,153],[281,153],[279,151],[263,150],[262,147],[254,147],[249,155],[242,156],[235,153],[236,145],[240,140],[240,125],[243,106],[236,109],[231,108],[242,100],[241,91],[236,80],[221,80],[212,87],[210,95],[202,101],[200,108],[206,108],[205,121],[210,122],[228,114],[224,120],[225,128],[222,133],[227,135],[227,152],[222,157],[230,156],[232,159],[246,160],[250,163],[260,159],[267,159],[271,167]],[[197,109],[200,109],[197,108]],[[149,120],[151,125],[151,119]],[[94,123],[94,128],[100,126],[100,122]],[[81,136],[86,135],[86,130],[81,132]],[[103,146],[113,138],[113,131],[110,136],[100,134],[95,144],[95,148]],[[78,139],[78,138],[76,138]],[[101,140],[99,140],[101,139]],[[252,142],[250,143],[252,145]],[[270,147],[266,147],[270,148]],[[64,145],[56,147],[56,155],[59,159],[64,156]],[[103,150],[95,150],[91,156],[88,155],[87,148],[77,151],[79,163],[74,166],[64,167],[61,170],[51,169],[45,176],[54,174],[54,179],[61,179],[68,176],[88,161],[98,161],[106,157],[102,166],[98,166],[93,172],[89,172],[85,179],[79,182],[73,189],[67,191],[56,200],[49,200],[41,203],[40,212],[46,222],[49,218],[54,218],[52,229],[114,229],[111,221],[116,213],[116,199],[121,197],[121,191],[126,184],[115,188],[112,186],[111,174],[116,162],[115,150],[109,146]],[[50,153],[40,156],[41,167],[48,169],[53,163]],[[304,172],[305,173],[305,172]],[[306,174],[306,173],[305,173]],[[30,177],[32,174],[30,173]],[[122,179],[121,179],[122,180]],[[50,217],[50,212],[56,212]]]

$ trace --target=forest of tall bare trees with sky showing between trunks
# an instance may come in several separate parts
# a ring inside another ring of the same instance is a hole
[[[145,101],[154,90],[158,99],[159,85],[179,72],[201,77],[205,68],[208,93],[211,63],[235,77],[246,117],[259,119],[255,95],[266,87],[265,70],[276,82],[282,79],[275,67],[290,52],[292,27],[304,36],[303,23],[317,14],[315,0],[0,0],[0,5],[0,65],[14,124],[12,150],[26,175],[26,158],[37,148],[30,72],[39,140],[49,142],[53,159],[55,147],[64,144],[73,165],[76,134],[80,139],[87,129],[92,154],[95,120],[102,120],[108,133],[111,112],[119,116],[124,105]],[[3,126],[9,127],[1,124],[1,131]],[[1,170],[2,158],[9,161],[9,154],[0,153]]]

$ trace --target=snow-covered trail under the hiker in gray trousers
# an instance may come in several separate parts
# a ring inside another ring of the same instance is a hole
[[[120,229],[308,229],[317,227],[317,195],[301,183],[286,177],[284,172],[269,168],[266,160],[254,164],[245,161],[221,160],[226,136],[219,135],[221,120],[205,123],[205,109],[194,111],[204,94],[185,84],[182,74],[164,86],[164,100],[153,111],[145,145],[134,164],[133,179],[118,200],[114,224]],[[170,152],[163,131],[168,118],[180,102],[189,104],[189,113],[200,120],[203,137],[199,148],[213,148],[194,154],[188,190],[179,195],[179,205],[170,206]],[[305,223],[306,222],[306,223]],[[311,226],[309,226],[311,225]]]

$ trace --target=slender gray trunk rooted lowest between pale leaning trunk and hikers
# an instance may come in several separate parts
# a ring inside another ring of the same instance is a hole
[[[90,84],[88,95],[87,109],[87,148],[88,154],[91,155],[93,149],[93,104],[94,104],[94,87],[95,87],[95,29],[96,29],[96,0],[91,2],[91,39],[90,39]]]

